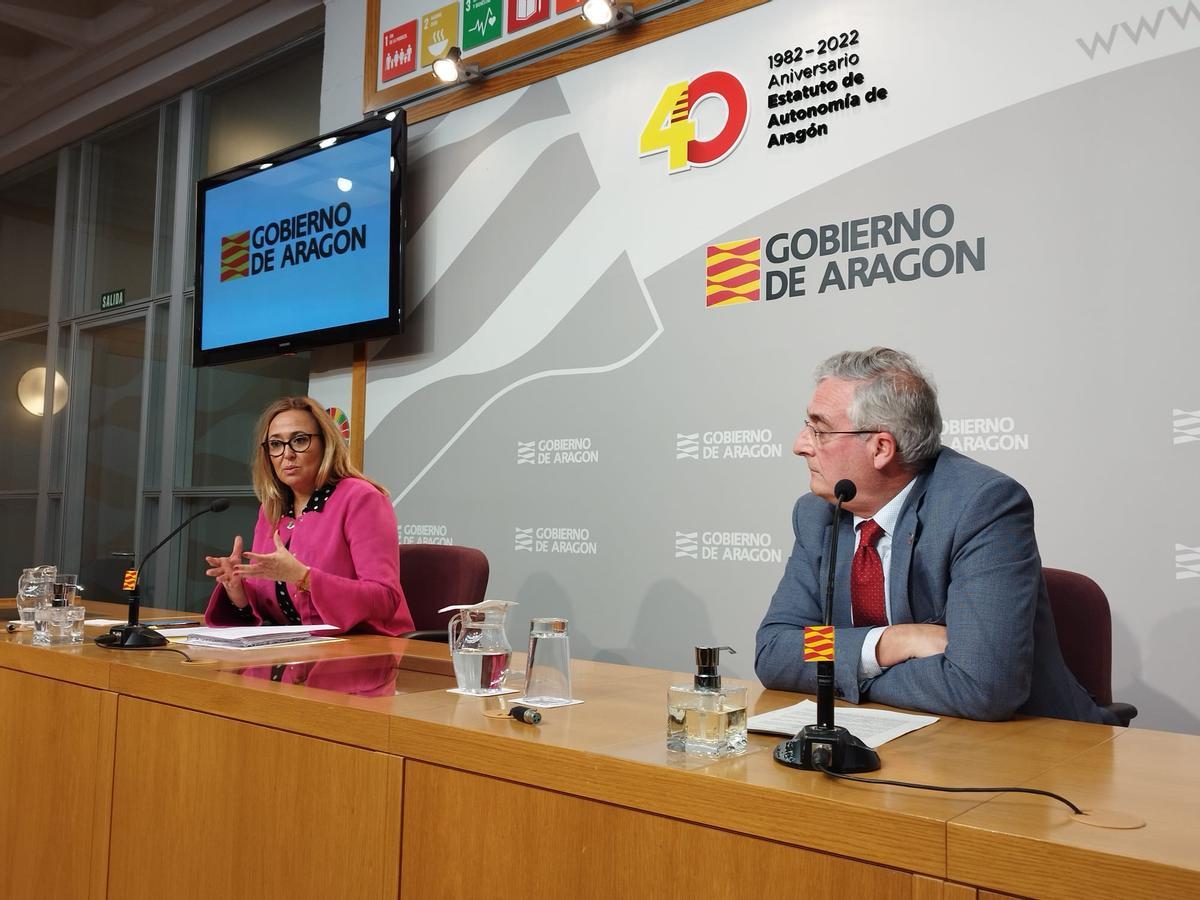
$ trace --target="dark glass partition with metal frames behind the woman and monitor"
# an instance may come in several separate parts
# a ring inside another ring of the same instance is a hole
[[[174,238],[194,223],[174,192],[317,134],[322,55],[320,40],[293,46],[0,175],[0,596],[48,562],[77,571],[88,598],[124,601],[127,559],[114,554],[140,557],[229,496],[233,509],[144,572],[145,602],[203,608],[203,556],[228,553],[238,532],[250,540],[253,422],[276,397],[307,394],[310,361],[191,367],[194,241]],[[48,356],[62,386],[46,428],[22,398],[44,401],[31,384]]]

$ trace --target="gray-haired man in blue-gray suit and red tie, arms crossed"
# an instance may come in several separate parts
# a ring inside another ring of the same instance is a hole
[[[1016,481],[942,446],[937,392],[907,354],[830,356],[816,371],[792,448],[811,493],[758,626],[755,671],[776,690],[816,691],[804,626],[824,622],[834,485],[844,508],[834,582],[836,696],[966,719],[1014,713],[1115,725],[1067,668]]]

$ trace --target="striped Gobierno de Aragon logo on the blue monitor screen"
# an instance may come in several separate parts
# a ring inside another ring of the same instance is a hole
[[[307,265],[366,246],[366,222],[354,224],[354,210],[343,200],[224,235],[221,281]]]

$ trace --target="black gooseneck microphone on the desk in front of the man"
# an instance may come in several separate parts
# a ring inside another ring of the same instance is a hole
[[[804,629],[804,661],[817,664],[817,724],[805,725],[791,740],[780,742],[775,760],[793,769],[829,769],[830,772],[875,772],[880,755],[845,728],[834,725],[834,630],[833,581],[838,565],[838,530],[841,504],[850,503],[858,488],[850,479],[833,487],[838,505],[833,510],[833,535],[829,539],[829,578],[826,582],[824,625]]]

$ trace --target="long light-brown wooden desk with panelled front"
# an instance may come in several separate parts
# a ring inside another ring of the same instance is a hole
[[[22,860],[0,896],[1200,895],[1200,738],[943,719],[881,750],[882,778],[1045,787],[1147,822],[1105,832],[1038,797],[787,769],[764,736],[679,757],[665,702],[684,674],[576,661],[587,702],[533,727],[448,694],[444,646],[188,653],[0,640],[0,846]],[[752,712],[796,700],[751,688]]]

